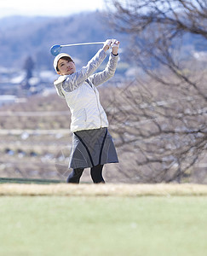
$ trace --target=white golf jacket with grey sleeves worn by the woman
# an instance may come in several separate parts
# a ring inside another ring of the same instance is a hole
[[[100,49],[86,67],[71,75],[60,76],[54,83],[58,95],[66,99],[71,110],[72,132],[108,126],[106,113],[95,86],[112,78],[117,67],[118,55],[111,54],[104,71],[92,75],[105,58],[105,51]]]

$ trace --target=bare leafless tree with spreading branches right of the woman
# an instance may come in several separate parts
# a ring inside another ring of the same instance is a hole
[[[129,34],[129,60],[139,71],[112,100],[119,113],[112,119],[117,145],[134,154],[131,177],[141,182],[192,181],[189,177],[207,156],[207,2],[107,4],[110,25]],[[187,48],[187,36],[199,39],[199,51]],[[122,171],[129,176],[127,168]],[[205,167],[196,181],[206,182],[206,175]]]

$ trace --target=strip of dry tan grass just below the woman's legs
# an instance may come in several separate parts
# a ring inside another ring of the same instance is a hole
[[[0,195],[26,196],[207,196],[200,184],[0,184]]]

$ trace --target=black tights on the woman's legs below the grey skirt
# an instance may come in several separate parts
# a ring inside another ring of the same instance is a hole
[[[90,168],[90,176],[94,183],[105,183],[102,177],[103,165],[98,165]],[[72,172],[67,177],[67,183],[79,183],[80,177],[82,176],[84,168],[73,169]]]

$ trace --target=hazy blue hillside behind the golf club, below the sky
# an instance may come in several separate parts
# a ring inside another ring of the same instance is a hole
[[[53,68],[49,49],[54,44],[105,41],[120,38],[110,32],[101,13],[80,13],[68,17],[9,17],[0,19],[0,66],[22,67],[28,55],[36,68]],[[124,45],[124,43],[123,43]],[[81,61],[88,61],[100,45],[66,49]]]

